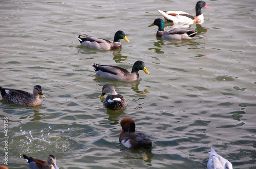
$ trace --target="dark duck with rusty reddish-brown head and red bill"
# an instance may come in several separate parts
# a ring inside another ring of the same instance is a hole
[[[143,133],[135,132],[135,123],[130,118],[123,118],[120,122],[122,131],[119,142],[129,149],[152,149],[152,141]]]

